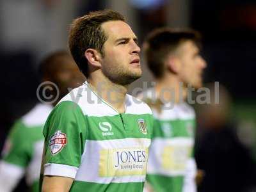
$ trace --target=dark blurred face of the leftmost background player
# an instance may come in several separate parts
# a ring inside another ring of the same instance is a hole
[[[58,85],[61,95],[68,93],[67,88],[76,88],[85,81],[84,75],[70,56],[57,58],[52,70],[52,81]]]

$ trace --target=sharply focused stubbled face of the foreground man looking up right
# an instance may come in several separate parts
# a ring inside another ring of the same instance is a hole
[[[103,45],[102,72],[113,83],[127,85],[141,77],[140,47],[132,29],[123,21],[102,24],[108,36]]]

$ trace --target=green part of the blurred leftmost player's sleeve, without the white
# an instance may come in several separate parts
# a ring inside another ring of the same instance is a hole
[[[15,122],[8,135],[3,150],[3,160],[25,168],[31,159],[32,151],[28,129],[19,120]]]

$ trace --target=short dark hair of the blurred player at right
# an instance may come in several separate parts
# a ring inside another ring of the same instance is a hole
[[[166,56],[186,40],[192,40],[200,47],[201,35],[192,29],[172,28],[158,28],[148,34],[144,42],[144,56],[154,77],[163,77]]]

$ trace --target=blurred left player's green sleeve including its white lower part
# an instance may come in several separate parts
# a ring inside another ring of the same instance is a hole
[[[4,143],[0,161],[0,191],[12,191],[31,159],[31,142],[21,121],[15,122]]]

